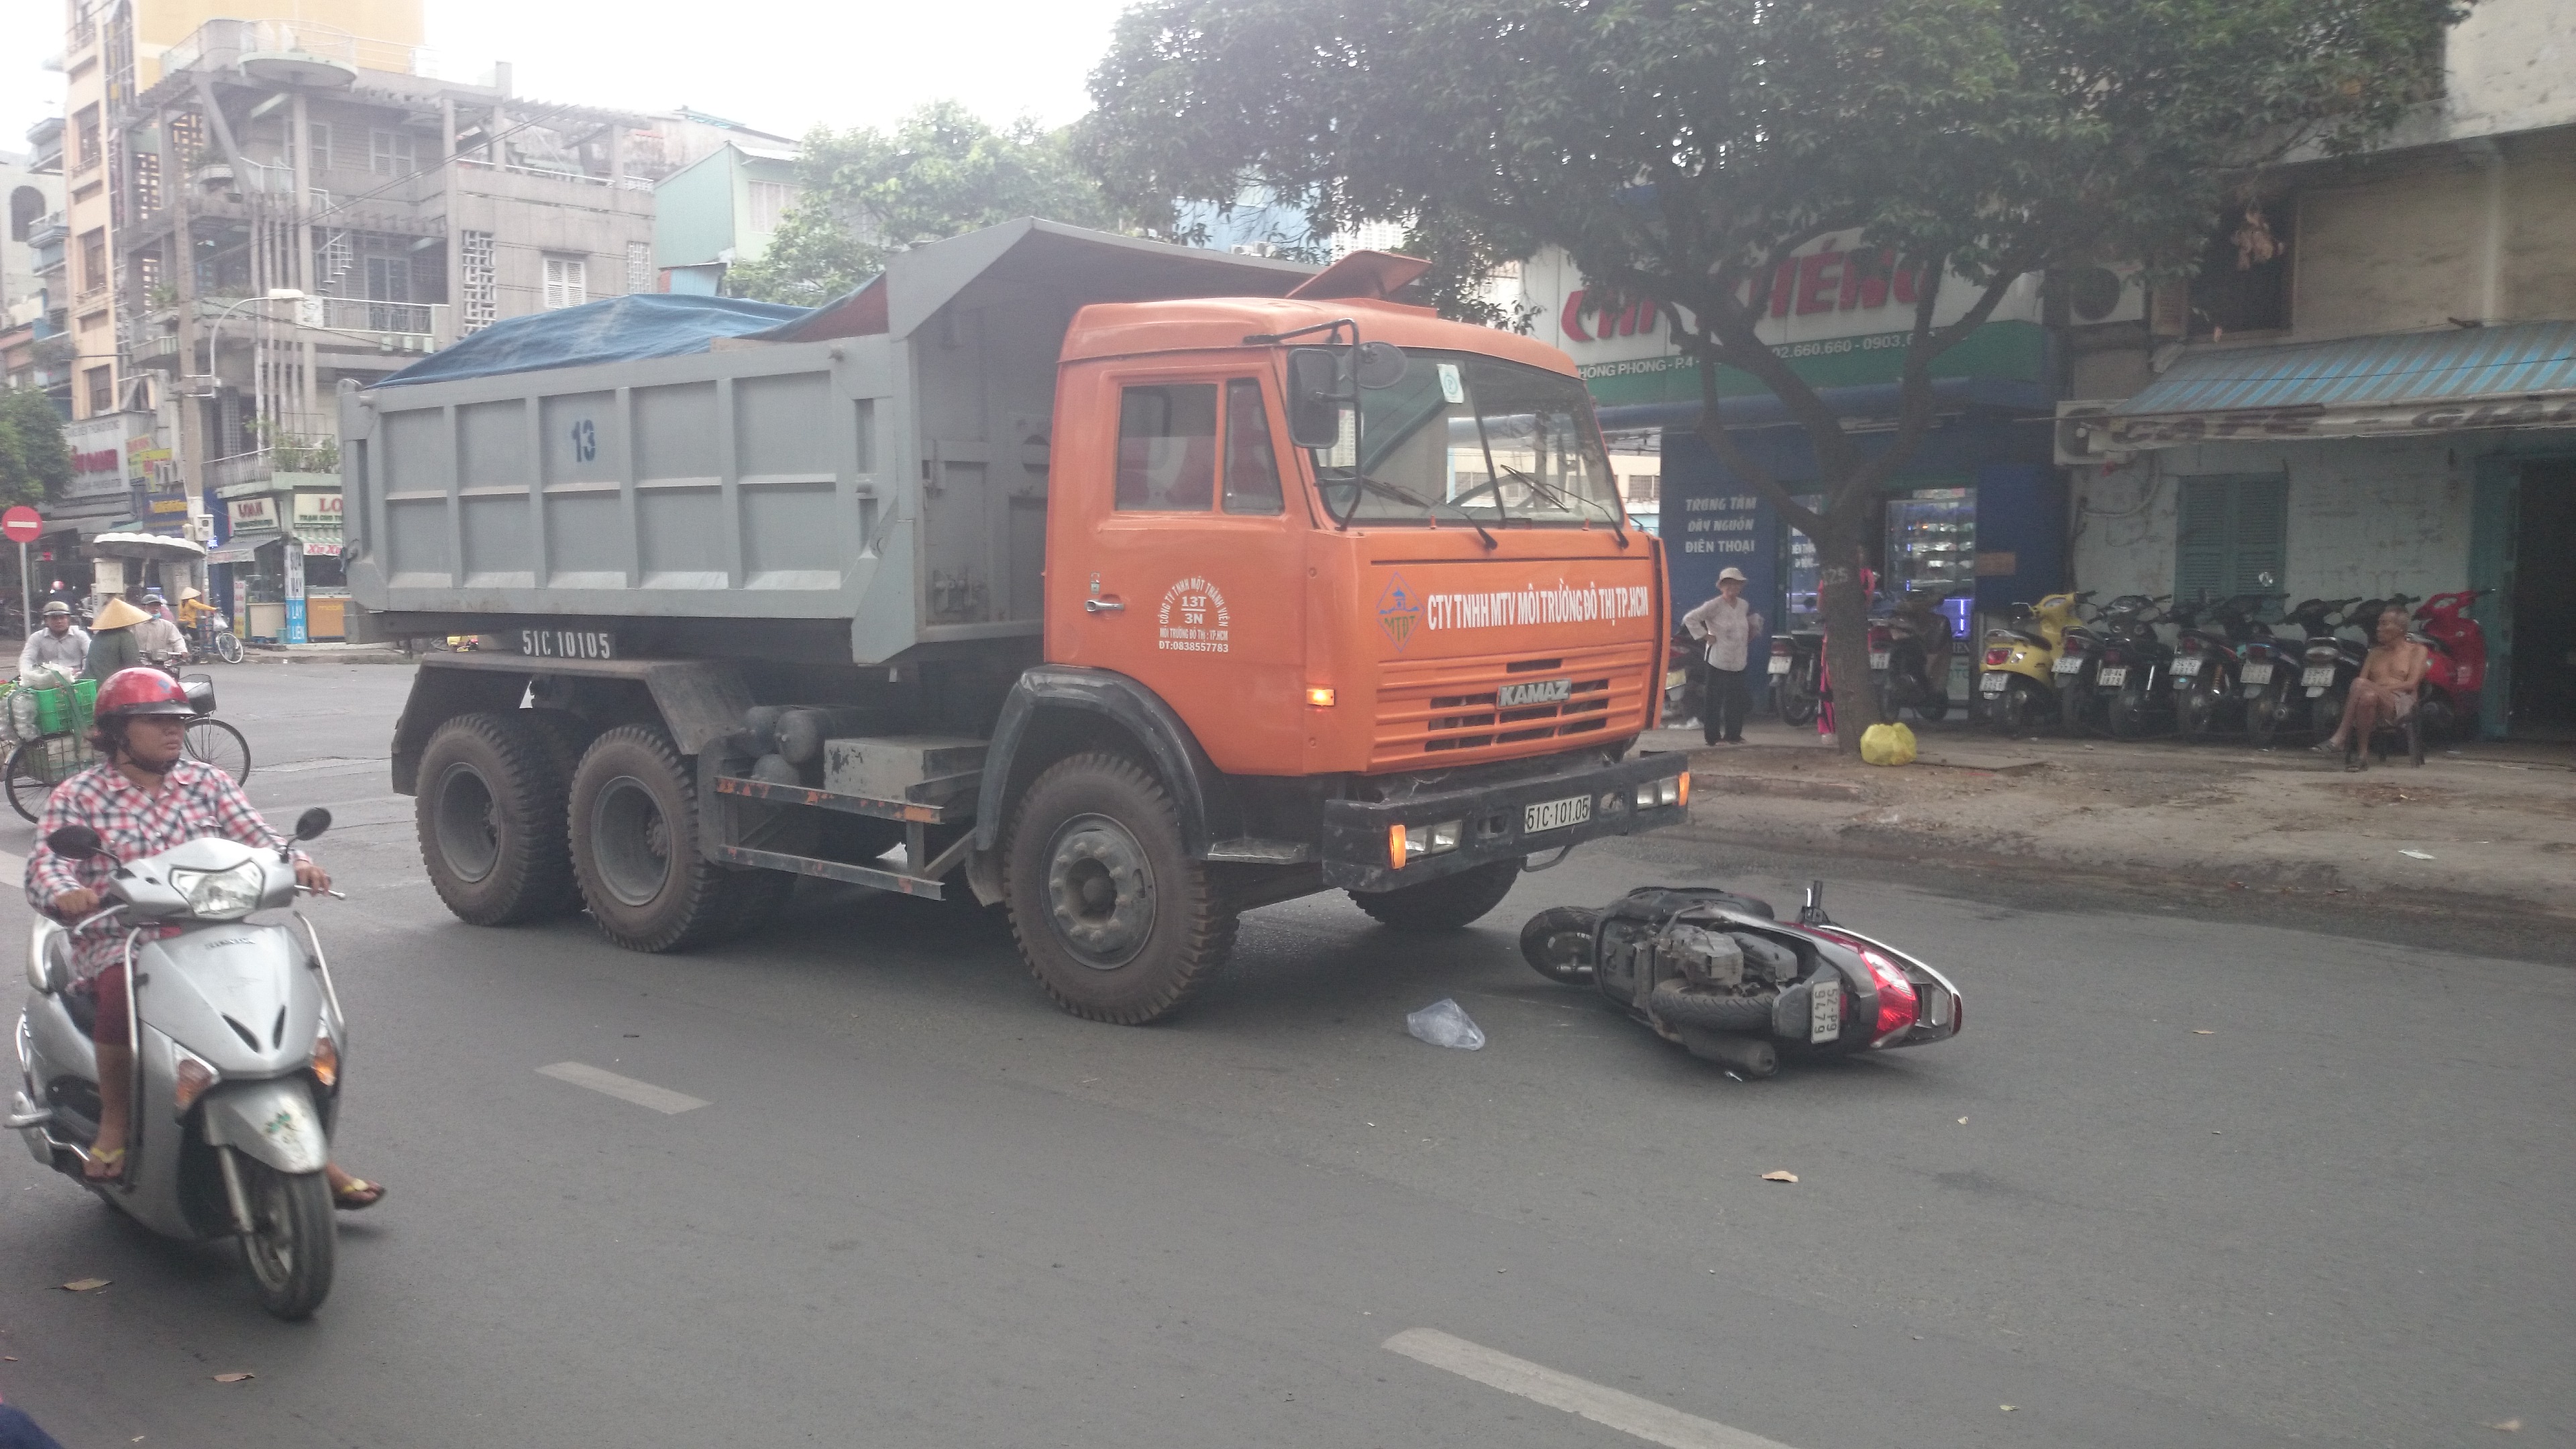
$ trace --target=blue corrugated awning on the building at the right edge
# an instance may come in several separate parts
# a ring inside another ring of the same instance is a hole
[[[2576,322],[2197,351],[2110,410],[2112,449],[2576,425]]]

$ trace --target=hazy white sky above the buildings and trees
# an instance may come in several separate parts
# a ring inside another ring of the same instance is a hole
[[[453,72],[513,64],[538,101],[659,111],[696,106],[747,126],[889,124],[956,98],[1007,121],[1072,121],[1123,0],[425,0],[430,46]],[[57,0],[0,0],[0,150],[62,113]],[[446,67],[443,67],[446,70]]]

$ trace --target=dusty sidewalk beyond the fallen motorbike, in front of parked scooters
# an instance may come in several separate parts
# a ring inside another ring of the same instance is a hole
[[[2465,743],[2424,768],[2344,773],[2303,745],[2004,740],[1917,730],[1875,768],[1814,730],[1754,719],[1744,745],[1654,730],[1690,750],[1692,830],[1801,853],[1971,869],[2154,877],[2287,895],[2450,892],[2576,920],[2576,748]]]

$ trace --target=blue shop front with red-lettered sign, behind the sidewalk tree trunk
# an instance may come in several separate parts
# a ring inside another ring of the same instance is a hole
[[[1893,433],[1914,278],[1891,258],[1855,250],[1857,235],[1821,237],[1790,258],[1770,286],[1765,343],[1842,418],[1862,449]],[[1582,286],[1564,258],[1525,268],[1538,335],[1564,348],[1600,405],[1602,428],[1662,438],[1656,477],[1659,534],[1677,603],[1716,593],[1723,567],[1744,570],[1747,596],[1775,624],[1814,611],[1816,554],[1803,534],[1744,480],[1731,477],[1698,436],[1698,369],[1680,356],[1654,307]],[[1942,289],[1935,322],[1965,312],[1973,291]],[[2136,297],[2125,299],[2136,309]],[[1932,369],[1935,428],[1886,487],[1870,559],[1888,588],[1940,596],[1960,629],[1971,611],[2002,614],[2063,588],[2066,487],[2050,467],[2056,402],[2038,276],[2007,291],[1994,317]],[[1803,492],[1821,485],[1814,449],[1777,397],[1749,374],[1718,376],[1718,420],[1736,449]],[[1814,503],[1814,498],[1806,498]]]

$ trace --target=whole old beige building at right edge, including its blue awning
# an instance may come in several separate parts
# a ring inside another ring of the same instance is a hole
[[[2190,286],[2069,327],[2079,588],[2486,588],[2483,735],[2576,732],[2568,75],[2576,10],[2483,0],[2378,147],[2251,178]]]

